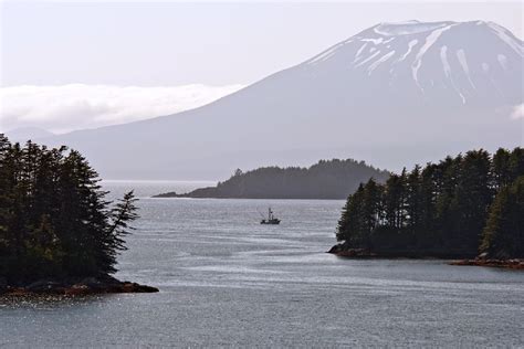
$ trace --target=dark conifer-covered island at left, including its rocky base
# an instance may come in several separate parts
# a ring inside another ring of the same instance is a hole
[[[112,203],[98,181],[77,151],[0,134],[0,295],[158,290],[112,276],[136,199]]]

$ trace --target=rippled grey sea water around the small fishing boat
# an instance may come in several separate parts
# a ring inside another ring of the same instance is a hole
[[[524,273],[338,258],[325,251],[343,204],[143,198],[117,277],[160,293],[3,299],[0,346],[524,347]],[[269,205],[281,225],[259,224]]]

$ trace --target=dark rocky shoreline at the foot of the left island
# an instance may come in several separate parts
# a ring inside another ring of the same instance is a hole
[[[158,288],[132,282],[120,282],[114,277],[84,277],[69,279],[40,279],[25,285],[9,285],[0,279],[0,296],[30,295],[99,295],[120,293],[156,293]]]

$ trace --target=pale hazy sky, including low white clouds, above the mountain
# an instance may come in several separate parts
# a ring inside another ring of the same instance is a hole
[[[198,105],[191,101],[207,103],[305,61],[378,22],[489,20],[523,36],[520,1],[2,1],[1,10],[0,126],[7,129],[65,131],[179,112]],[[83,93],[72,94],[67,84],[81,84]],[[169,98],[166,88],[180,85],[192,89],[174,88]],[[129,88],[118,91],[129,86],[143,88],[139,115],[123,113],[119,105],[125,102],[112,104],[115,95],[119,101],[136,98],[136,89],[130,95]],[[147,88],[153,86],[165,89]],[[88,97],[93,95],[96,105]],[[167,101],[166,108],[149,113],[147,105],[157,97]],[[45,116],[34,116],[42,103],[53,99]],[[78,124],[104,105],[105,121]]]

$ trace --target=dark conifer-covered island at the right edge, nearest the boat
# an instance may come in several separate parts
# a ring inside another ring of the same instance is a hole
[[[524,268],[524,149],[447,157],[361,183],[347,198],[331,253],[474,258]]]

